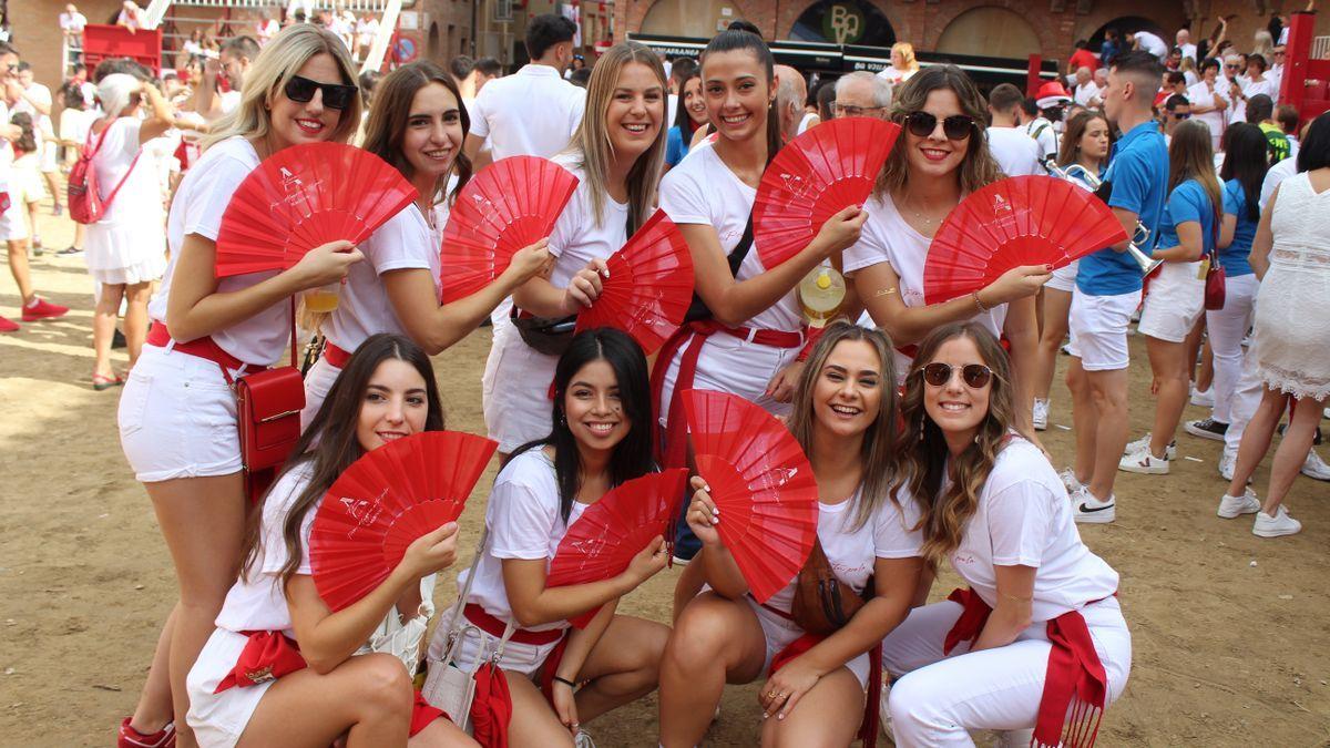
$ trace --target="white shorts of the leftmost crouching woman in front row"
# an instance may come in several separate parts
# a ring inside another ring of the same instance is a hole
[[[217,628],[203,644],[203,651],[194,660],[185,679],[189,693],[189,715],[185,721],[194,729],[194,737],[202,748],[230,748],[241,739],[249,725],[259,700],[267,693],[274,680],[234,687],[213,693],[217,684],[235,667],[235,660],[245,650],[249,638]]]

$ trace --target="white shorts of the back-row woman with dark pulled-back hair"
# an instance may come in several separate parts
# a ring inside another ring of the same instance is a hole
[[[678,363],[685,347],[674,354],[665,371],[665,386],[661,389],[660,425],[666,426],[674,381],[678,378]],[[697,357],[697,374],[693,377],[694,390],[716,390],[738,395],[765,409],[771,415],[787,415],[789,403],[779,403],[767,397],[766,387],[782,369],[794,363],[799,355],[797,347],[774,347],[751,343],[725,333],[716,333],[702,342],[702,353]],[[658,362],[657,362],[658,363]]]

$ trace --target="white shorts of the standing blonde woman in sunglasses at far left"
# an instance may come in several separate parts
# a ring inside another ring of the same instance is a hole
[[[239,472],[235,393],[222,369],[144,346],[120,395],[120,446],[140,483]]]

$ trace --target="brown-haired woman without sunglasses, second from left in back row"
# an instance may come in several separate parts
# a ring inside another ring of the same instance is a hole
[[[398,68],[375,88],[363,148],[416,188],[416,201],[360,244],[364,262],[347,273],[338,307],[321,315],[323,355],[305,377],[309,426],[332,382],[366,338],[408,335],[436,355],[467,337],[549,258],[541,240],[519,250],[499,278],[452,303],[439,303],[439,248],[458,192],[471,178],[462,153],[471,122],[452,76],[428,61]]]

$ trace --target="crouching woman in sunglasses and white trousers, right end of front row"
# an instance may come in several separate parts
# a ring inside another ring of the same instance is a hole
[[[971,745],[970,729],[1024,729],[1024,745],[1031,728],[1036,745],[1093,744],[1089,707],[1121,695],[1132,663],[1117,572],[1081,542],[1061,480],[1016,433],[1011,367],[984,325],[919,343],[902,418],[894,491],[923,508],[924,559],[950,560],[970,588],[915,608],[882,643],[898,676],[896,745]],[[1077,681],[1096,684],[1089,704],[1072,699]],[[1079,741],[1063,737],[1068,715]]]

